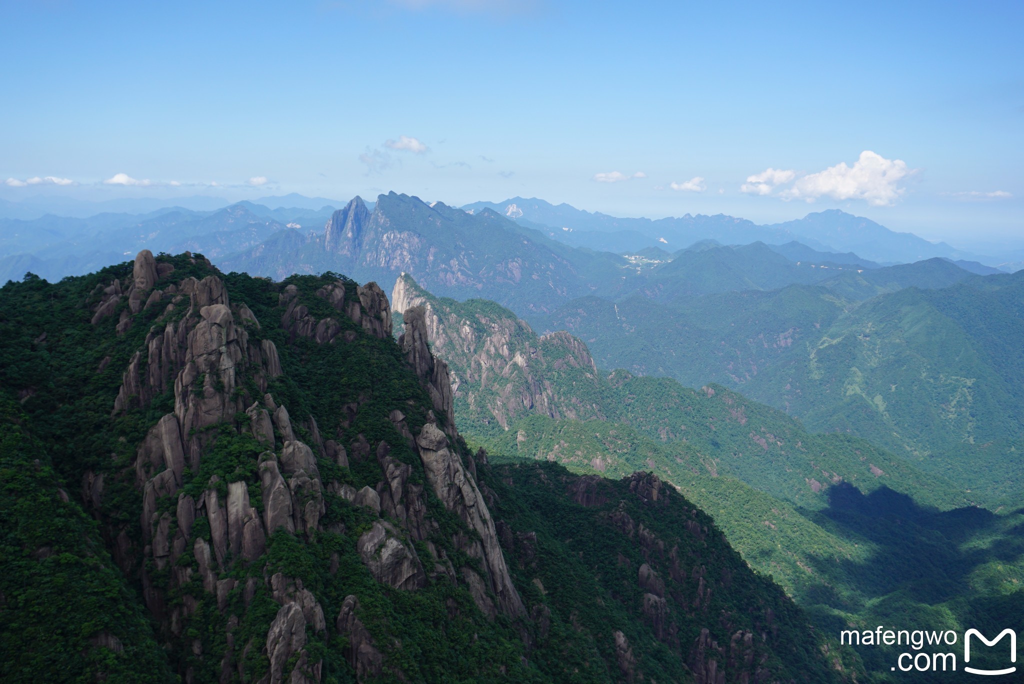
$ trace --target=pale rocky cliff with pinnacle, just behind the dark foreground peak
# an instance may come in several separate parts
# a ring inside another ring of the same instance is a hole
[[[391,300],[395,311],[414,311],[416,326],[425,328],[434,352],[447,364],[461,420],[508,429],[528,414],[604,417],[598,401],[584,398],[597,398],[594,359],[567,333],[538,338],[507,309],[440,300],[408,273],[395,281]]]

